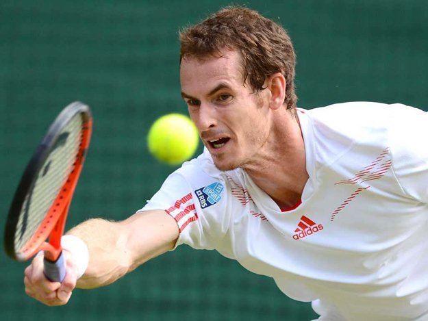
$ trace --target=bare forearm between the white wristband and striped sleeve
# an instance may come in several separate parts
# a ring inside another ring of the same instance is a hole
[[[108,285],[145,261],[171,250],[178,236],[175,221],[164,211],[134,214],[121,222],[92,219],[74,227],[88,246],[89,264],[77,287]]]

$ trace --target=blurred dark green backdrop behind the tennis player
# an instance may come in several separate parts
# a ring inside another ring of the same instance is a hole
[[[428,107],[428,2],[234,1],[278,21],[297,51],[299,107],[343,101]],[[147,153],[149,125],[186,113],[177,31],[229,1],[0,3],[1,228],[34,147],[62,107],[84,101],[95,128],[68,228],[121,220],[174,168]],[[201,151],[201,149],[199,149]],[[65,307],[24,293],[26,264],[0,254],[2,320],[311,320],[308,303],[214,251],[181,246],[114,285],[75,290]]]

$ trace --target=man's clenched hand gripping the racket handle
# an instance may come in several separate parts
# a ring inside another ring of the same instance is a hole
[[[66,261],[66,276],[62,283],[51,282],[43,274],[43,255],[34,257],[32,264],[25,269],[25,293],[50,307],[65,305],[76,287],[77,267],[71,253],[63,250]]]

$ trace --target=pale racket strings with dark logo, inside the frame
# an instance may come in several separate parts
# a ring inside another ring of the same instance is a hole
[[[20,251],[29,241],[41,223],[46,226],[57,217],[51,214],[45,219],[52,206],[59,207],[62,205],[62,199],[57,204],[53,204],[53,202],[75,168],[76,159],[81,149],[82,128],[81,114],[76,114],[60,131],[58,139],[40,167],[38,177],[25,197],[18,218],[14,238],[14,247],[17,251]],[[55,211],[57,209],[53,209],[54,213]]]

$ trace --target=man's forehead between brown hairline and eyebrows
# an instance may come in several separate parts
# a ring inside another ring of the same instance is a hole
[[[242,86],[241,56],[237,51],[227,51],[221,57],[186,57],[180,65],[181,90],[212,89],[220,82]],[[190,94],[190,92],[189,92]]]

